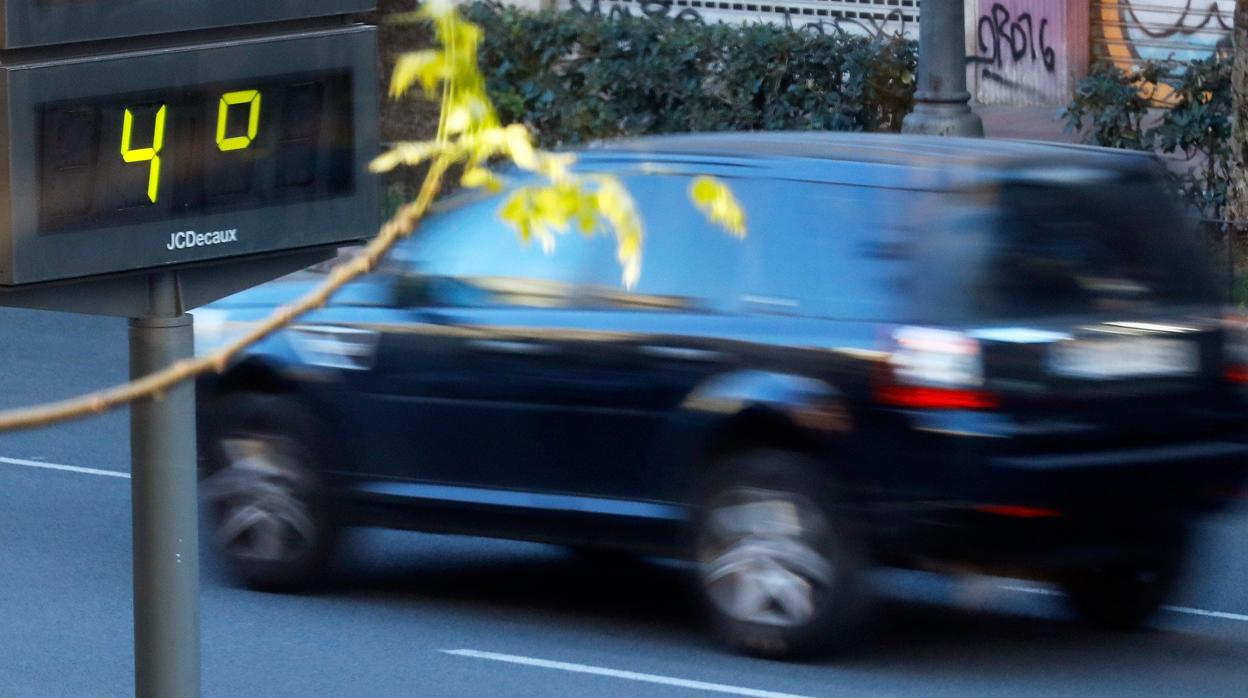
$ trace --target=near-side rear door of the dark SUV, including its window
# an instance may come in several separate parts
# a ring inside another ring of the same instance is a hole
[[[578,328],[564,346],[580,380],[575,408],[553,428],[563,457],[585,465],[567,473],[569,487],[593,497],[678,501],[681,405],[738,362],[729,338],[744,243],[691,204],[696,170],[665,162],[664,172],[620,172],[645,226],[640,277],[625,287],[613,245],[589,246]]]

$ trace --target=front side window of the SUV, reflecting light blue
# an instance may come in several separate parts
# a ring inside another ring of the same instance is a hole
[[[498,216],[502,196],[431,216],[399,245],[389,268],[399,305],[569,307],[587,242],[557,236],[554,250],[522,241]]]

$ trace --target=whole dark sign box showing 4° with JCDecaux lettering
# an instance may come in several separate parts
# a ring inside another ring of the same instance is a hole
[[[0,285],[376,233],[377,32],[0,62]]]

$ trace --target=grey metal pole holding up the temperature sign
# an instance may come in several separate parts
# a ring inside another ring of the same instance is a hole
[[[191,316],[172,272],[151,277],[146,317],[130,320],[130,375],[190,357]],[[135,556],[135,696],[200,694],[200,539],[195,385],[130,410]]]

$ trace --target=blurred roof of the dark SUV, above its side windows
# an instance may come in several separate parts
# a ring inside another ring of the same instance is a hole
[[[1047,170],[1144,170],[1148,152],[953,136],[824,131],[708,132],[604,141],[578,151],[583,165],[711,162],[780,170],[782,176],[899,187],[951,187]]]

